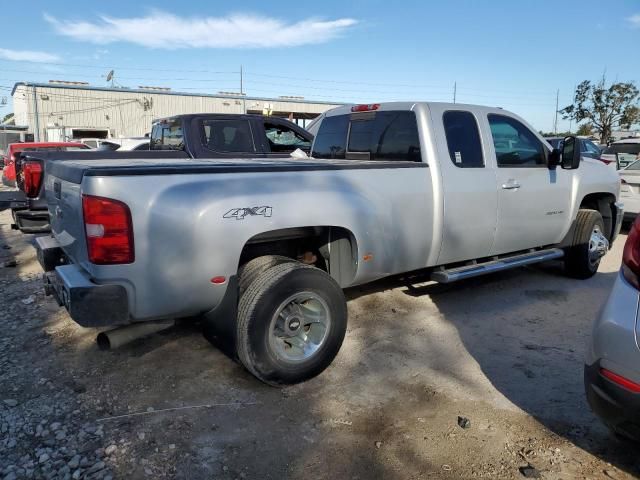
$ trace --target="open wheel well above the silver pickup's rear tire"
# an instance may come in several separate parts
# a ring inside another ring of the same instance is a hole
[[[358,265],[355,236],[346,228],[334,226],[283,228],[255,235],[242,248],[238,268],[263,255],[282,255],[314,265],[340,286],[353,281]]]

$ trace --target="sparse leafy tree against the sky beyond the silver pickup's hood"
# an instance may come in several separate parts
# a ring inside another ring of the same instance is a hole
[[[604,77],[598,83],[585,80],[576,87],[573,105],[562,110],[564,119],[587,120],[605,143],[615,127],[630,128],[640,121],[638,97],[640,91],[633,82],[606,86]]]

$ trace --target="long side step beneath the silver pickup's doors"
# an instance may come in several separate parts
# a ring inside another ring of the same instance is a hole
[[[510,268],[522,267],[523,265],[531,265],[532,263],[546,262],[547,260],[553,260],[563,256],[564,251],[560,248],[537,250],[535,252],[491,260],[485,263],[464,265],[448,270],[437,270],[431,274],[431,280],[439,283],[457,282],[465,278],[479,277],[487,273],[500,272]]]

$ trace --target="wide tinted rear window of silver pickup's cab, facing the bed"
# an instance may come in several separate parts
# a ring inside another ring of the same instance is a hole
[[[412,111],[370,111],[326,117],[312,156],[324,159],[420,162]]]

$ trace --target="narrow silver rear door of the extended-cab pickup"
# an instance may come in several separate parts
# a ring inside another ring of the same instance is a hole
[[[481,119],[446,105],[430,108],[444,195],[438,263],[486,257],[494,241],[498,193],[494,162],[483,149]]]

